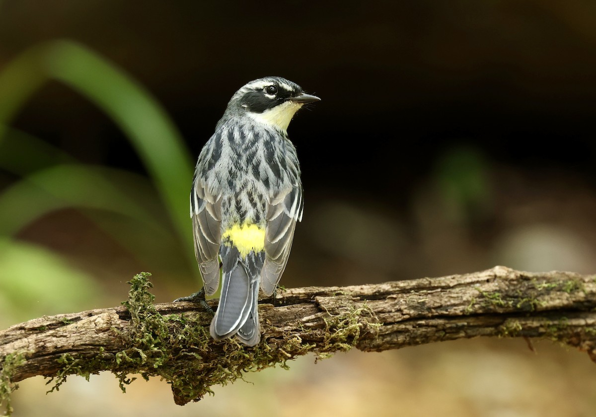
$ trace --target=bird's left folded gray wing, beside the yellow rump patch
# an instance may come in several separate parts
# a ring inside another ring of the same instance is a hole
[[[207,295],[219,286],[219,244],[221,242],[221,195],[209,194],[197,176],[190,194],[193,219],[194,253]]]

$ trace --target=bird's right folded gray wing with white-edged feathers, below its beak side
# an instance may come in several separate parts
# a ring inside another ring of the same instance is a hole
[[[267,210],[265,231],[265,263],[261,272],[260,287],[271,295],[280,282],[285,264],[290,256],[296,222],[302,220],[302,186],[294,185],[285,194],[272,198]]]

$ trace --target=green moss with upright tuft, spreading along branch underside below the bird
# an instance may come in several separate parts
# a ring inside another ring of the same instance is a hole
[[[177,404],[198,401],[205,394],[212,394],[212,385],[226,385],[243,379],[247,371],[259,371],[271,366],[287,369],[287,361],[295,359],[316,348],[319,357],[331,356],[337,350],[347,351],[356,343],[362,328],[362,316],[367,307],[354,308],[347,315],[333,316],[325,320],[327,331],[313,329],[312,340],[324,338],[320,343],[305,343],[297,336],[288,336],[275,343],[260,343],[254,347],[239,344],[235,338],[215,342],[209,329],[200,322],[187,319],[185,315],[162,316],[153,305],[150,274],[140,273],[129,281],[129,298],[122,304],[131,315],[131,325],[121,334],[125,349],[116,353],[101,352],[94,357],[73,357],[64,354],[60,358],[61,371],[48,383],[50,389],[58,390],[68,375],[81,375],[86,379],[98,369],[110,369],[119,380],[122,391],[136,378],[160,376],[172,387]],[[209,314],[209,313],[198,313]],[[367,325],[374,329],[376,324]],[[280,348],[281,347],[281,348]]]

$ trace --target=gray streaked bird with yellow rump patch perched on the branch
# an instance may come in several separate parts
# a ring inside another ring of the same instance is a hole
[[[287,127],[319,101],[281,77],[249,82],[228,103],[198,157],[190,195],[194,248],[204,292],[221,297],[210,333],[247,346],[260,341],[259,286],[271,295],[302,219],[302,182]]]

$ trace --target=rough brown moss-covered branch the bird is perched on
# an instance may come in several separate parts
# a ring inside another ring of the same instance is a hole
[[[113,372],[120,386],[159,375],[177,404],[199,400],[214,384],[246,371],[287,366],[356,347],[382,351],[477,336],[542,337],[596,360],[596,276],[529,273],[497,266],[483,272],[350,287],[278,291],[260,301],[262,342],[209,337],[210,313],[189,302],[153,304],[149,274],[131,281],[121,307],[29,320],[0,331],[0,400],[14,382]],[[272,304],[274,302],[274,304]],[[210,301],[215,307],[216,301]]]

